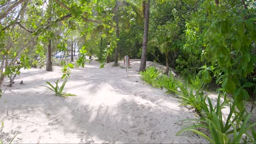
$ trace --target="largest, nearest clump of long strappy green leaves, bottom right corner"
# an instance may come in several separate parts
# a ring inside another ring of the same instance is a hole
[[[194,131],[196,134],[205,137],[210,143],[240,143],[243,135],[246,135],[246,140],[244,141],[247,141],[247,137],[249,137],[249,141],[255,141],[255,133],[253,133],[253,136],[248,133],[248,131],[253,129],[254,125],[256,125],[256,123],[248,123],[252,113],[245,115],[245,111],[236,112],[236,101],[231,103],[231,101],[225,97],[224,101],[220,103],[221,97],[222,95],[219,94],[215,107],[213,107],[211,99],[207,97],[208,106],[202,107],[203,113],[205,113],[206,116],[202,117],[202,119],[185,119],[185,121],[197,121],[199,123],[179,131],[177,135],[184,131]],[[230,104],[230,112],[228,118],[225,120],[222,117],[222,109],[227,104]],[[232,117],[233,115],[235,115],[235,117]],[[210,131],[210,135],[203,134],[199,129]],[[230,135],[233,137],[232,140],[230,139]]]

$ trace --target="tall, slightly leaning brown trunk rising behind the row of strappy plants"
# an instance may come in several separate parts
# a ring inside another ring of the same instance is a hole
[[[144,71],[146,69],[150,0],[148,0],[147,3],[146,1],[144,1],[143,3],[145,3],[144,34],[143,34],[143,42],[142,42],[141,66],[139,67],[139,71]]]

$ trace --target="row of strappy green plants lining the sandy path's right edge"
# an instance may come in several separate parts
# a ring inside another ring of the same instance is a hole
[[[252,111],[245,109],[246,101],[231,100],[226,97],[225,92],[219,92],[216,105],[203,93],[205,82],[200,76],[187,76],[182,82],[161,74],[155,67],[149,67],[140,73],[141,79],[153,87],[165,88],[167,93],[178,95],[182,105],[194,107],[199,113],[200,119],[184,119],[182,121],[194,121],[194,125],[178,131],[177,135],[184,131],[194,131],[194,133],[204,137],[210,143],[255,143],[256,134],[253,127],[256,123],[249,123]],[[221,100],[223,98],[223,101]],[[228,117],[223,118],[222,110],[230,107]],[[205,130],[201,130],[205,129]]]

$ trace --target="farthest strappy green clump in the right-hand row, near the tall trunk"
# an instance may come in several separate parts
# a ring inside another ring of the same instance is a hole
[[[146,81],[149,85],[153,85],[160,75],[160,72],[155,67],[148,67],[145,71],[139,72],[141,79]]]

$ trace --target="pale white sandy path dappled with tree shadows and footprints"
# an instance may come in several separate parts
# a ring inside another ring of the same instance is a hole
[[[77,97],[67,99],[44,87],[45,81],[60,79],[60,67],[22,70],[16,83],[25,85],[3,88],[0,139],[8,142],[18,133],[13,143],[207,142],[193,133],[175,135],[191,125],[178,121],[195,115],[170,94],[143,84],[138,61],[131,62],[128,78],[125,69],[99,66],[92,62],[72,70],[65,92]]]

